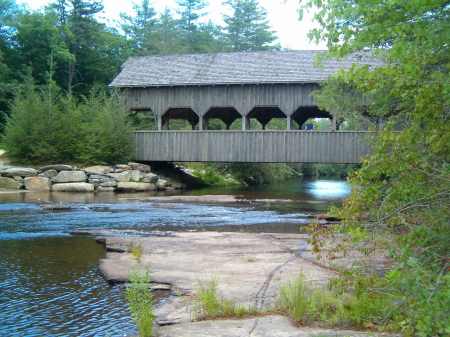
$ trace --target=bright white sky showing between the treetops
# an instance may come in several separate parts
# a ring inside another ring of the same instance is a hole
[[[207,0],[209,6],[205,11],[210,13],[207,17],[213,22],[222,24],[221,6],[224,0]],[[16,0],[16,3],[27,4],[31,9],[39,9],[51,0]],[[134,0],[134,3],[140,4],[141,0]],[[153,0],[150,1],[152,6],[158,13],[164,11],[166,7],[175,8],[175,0]],[[300,7],[299,0],[259,0],[261,7],[267,10],[267,18],[276,36],[278,42],[286,48],[293,50],[310,50],[310,49],[326,49],[325,45],[315,45],[310,43],[306,36],[308,31],[313,27],[310,17],[305,15],[302,22],[298,21],[297,10]],[[111,22],[119,19],[120,12],[132,14],[133,0],[103,0],[104,16]]]

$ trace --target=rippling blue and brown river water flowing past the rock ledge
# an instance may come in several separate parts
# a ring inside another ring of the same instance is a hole
[[[231,203],[150,202],[139,197],[234,195]],[[308,215],[347,197],[342,181],[139,194],[0,194],[0,336],[130,336],[136,333],[118,286],[98,274],[104,247],[80,229],[142,232],[219,230],[292,232]],[[70,210],[46,211],[47,203]]]

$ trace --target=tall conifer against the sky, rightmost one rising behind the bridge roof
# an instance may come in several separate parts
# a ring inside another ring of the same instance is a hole
[[[274,50],[277,37],[270,29],[267,11],[257,0],[228,0],[233,15],[223,15],[225,36],[232,51]]]

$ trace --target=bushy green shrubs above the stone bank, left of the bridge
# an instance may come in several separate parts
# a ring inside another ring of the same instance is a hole
[[[126,108],[115,93],[93,92],[78,103],[31,75],[16,89],[3,146],[20,164],[76,162],[111,164],[131,155]]]

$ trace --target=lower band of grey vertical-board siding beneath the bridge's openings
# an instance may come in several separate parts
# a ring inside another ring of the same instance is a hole
[[[137,131],[135,160],[359,163],[361,131]]]

